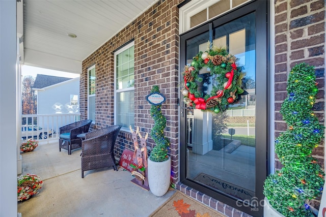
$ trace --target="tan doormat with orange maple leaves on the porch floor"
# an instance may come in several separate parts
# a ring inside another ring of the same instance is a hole
[[[225,217],[226,215],[218,212],[195,199],[176,191],[172,197],[156,209],[150,217],[178,217],[178,216],[205,216],[205,217]]]

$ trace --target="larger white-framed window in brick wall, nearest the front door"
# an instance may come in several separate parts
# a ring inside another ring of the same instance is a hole
[[[114,54],[114,122],[127,130],[134,126],[134,42]]]

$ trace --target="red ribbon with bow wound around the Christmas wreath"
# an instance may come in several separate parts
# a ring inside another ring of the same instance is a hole
[[[227,89],[229,88],[229,86],[232,84],[232,80],[233,80],[233,76],[234,76],[234,70],[236,70],[236,65],[235,63],[231,64],[231,67],[232,67],[232,70],[231,70],[231,74],[230,74],[230,77],[229,77],[229,80],[228,80],[228,83],[226,84],[226,86],[224,87],[224,89]],[[191,72],[195,70],[194,67],[189,67],[188,71]],[[189,90],[189,87],[187,87],[186,83],[186,79],[185,79],[185,76],[183,77],[183,80],[184,80],[184,86],[187,90]],[[193,101],[196,105],[196,109],[201,109],[201,110],[205,110],[206,109],[206,102],[211,100],[211,99],[215,99],[215,98],[220,98],[220,97],[223,97],[224,95],[224,90],[218,90],[216,92],[216,96],[213,96],[213,97],[210,97],[208,98],[206,101],[205,99],[203,98],[196,98],[194,94],[191,94],[190,92],[188,92],[188,98]]]

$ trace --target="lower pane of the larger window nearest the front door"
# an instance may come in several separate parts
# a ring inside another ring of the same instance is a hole
[[[117,93],[117,110],[116,110],[117,125],[124,128],[134,126],[134,91],[118,92]]]

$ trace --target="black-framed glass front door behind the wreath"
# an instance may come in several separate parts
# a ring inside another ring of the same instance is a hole
[[[206,51],[209,41],[235,55],[246,73],[244,95],[222,114],[181,102],[180,180],[254,216],[262,215],[267,174],[266,7],[265,1],[250,3],[180,37],[181,66]]]

